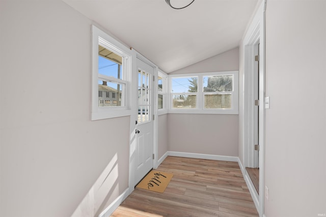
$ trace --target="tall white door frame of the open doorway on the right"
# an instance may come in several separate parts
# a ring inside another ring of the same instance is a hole
[[[259,192],[258,195],[253,187],[247,172],[245,179],[251,187],[250,193],[253,197],[259,216],[264,214],[264,151],[265,151],[265,8],[266,0],[262,1],[243,39],[243,164],[244,167],[254,166],[254,82],[255,82],[255,47],[259,42]],[[245,169],[244,169],[245,170]]]

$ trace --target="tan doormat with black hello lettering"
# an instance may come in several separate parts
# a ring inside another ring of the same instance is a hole
[[[152,170],[139,182],[136,188],[163,193],[172,176],[172,173]]]

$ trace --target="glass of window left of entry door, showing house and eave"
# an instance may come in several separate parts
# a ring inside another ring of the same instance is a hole
[[[98,106],[123,106],[122,56],[98,45]],[[104,94],[105,92],[105,94]],[[119,93],[116,95],[116,93]]]

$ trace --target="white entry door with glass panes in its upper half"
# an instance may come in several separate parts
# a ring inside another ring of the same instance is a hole
[[[153,168],[153,76],[154,68],[137,58],[138,68],[138,119],[136,127],[135,183]]]

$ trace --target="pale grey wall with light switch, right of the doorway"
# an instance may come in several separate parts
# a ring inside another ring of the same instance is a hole
[[[326,214],[325,81],[326,1],[268,0],[267,217]]]

